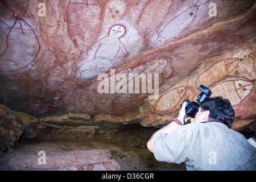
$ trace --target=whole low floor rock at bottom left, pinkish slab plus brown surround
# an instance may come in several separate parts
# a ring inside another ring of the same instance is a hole
[[[1,170],[116,171],[145,168],[138,154],[100,142],[19,143],[0,154]]]

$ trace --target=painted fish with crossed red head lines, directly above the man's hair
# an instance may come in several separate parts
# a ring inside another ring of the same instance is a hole
[[[227,98],[232,106],[241,104],[243,100],[251,93],[253,89],[253,82],[245,78],[236,78],[234,80],[222,81],[216,86],[210,88],[212,90],[212,97],[222,96]]]

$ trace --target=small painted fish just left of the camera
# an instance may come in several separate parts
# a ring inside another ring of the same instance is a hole
[[[169,90],[160,97],[158,102],[156,102],[154,111],[172,111],[174,107],[181,103],[186,92],[187,86],[179,86]]]

